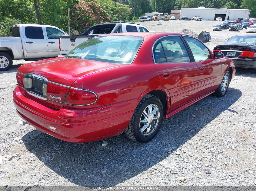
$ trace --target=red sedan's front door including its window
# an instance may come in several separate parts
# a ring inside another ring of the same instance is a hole
[[[196,97],[215,91],[221,83],[221,63],[214,59],[209,49],[199,40],[183,37],[191,49],[192,56],[198,66],[198,89]]]

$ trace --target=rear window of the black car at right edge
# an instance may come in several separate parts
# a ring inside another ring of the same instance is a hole
[[[256,35],[250,36],[234,36],[228,39],[223,45],[255,45]]]

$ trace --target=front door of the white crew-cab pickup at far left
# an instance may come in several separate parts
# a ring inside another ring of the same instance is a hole
[[[60,54],[59,38],[63,36],[60,30],[53,27],[44,27],[47,35],[48,57],[56,57]]]

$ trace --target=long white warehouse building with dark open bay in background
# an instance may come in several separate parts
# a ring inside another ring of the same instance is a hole
[[[181,17],[192,18],[196,15],[200,16],[202,20],[213,21],[217,17],[221,17],[222,21],[238,19],[238,18],[249,18],[251,10],[249,9],[210,9],[210,8],[181,8]]]

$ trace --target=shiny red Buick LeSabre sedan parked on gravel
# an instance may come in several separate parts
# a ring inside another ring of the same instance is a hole
[[[116,33],[91,38],[64,58],[18,68],[17,113],[68,142],[125,134],[140,143],[202,98],[222,97],[234,62],[181,33]]]

